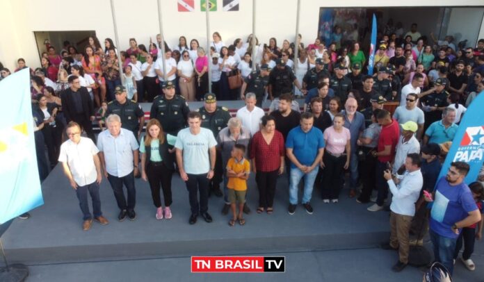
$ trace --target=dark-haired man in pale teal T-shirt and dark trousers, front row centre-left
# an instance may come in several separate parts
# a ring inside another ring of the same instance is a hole
[[[213,178],[217,141],[210,129],[202,128],[202,115],[188,113],[188,128],[177,135],[177,164],[180,176],[186,183],[190,199],[191,216],[188,223],[195,224],[200,213],[206,222],[212,222],[209,210],[209,180]],[[200,202],[198,192],[200,191]]]

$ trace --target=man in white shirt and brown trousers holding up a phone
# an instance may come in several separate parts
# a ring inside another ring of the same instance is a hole
[[[415,215],[415,203],[419,199],[420,190],[424,185],[420,165],[419,154],[408,154],[405,158],[406,172],[398,185],[395,185],[389,169],[383,174],[392,191],[393,201],[390,206],[390,242],[382,244],[382,248],[398,249],[398,262],[392,267],[394,272],[401,272],[408,264],[410,251],[408,234],[412,218]]]

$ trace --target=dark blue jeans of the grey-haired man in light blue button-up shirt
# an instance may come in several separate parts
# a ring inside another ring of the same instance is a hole
[[[118,203],[118,208],[120,210],[134,210],[136,205],[136,189],[134,188],[134,172],[127,174],[126,176],[118,177],[108,174],[108,181],[113,188],[114,197],[116,198],[116,203]],[[128,192],[128,201],[124,197],[124,191],[122,190],[122,185],[126,186]]]

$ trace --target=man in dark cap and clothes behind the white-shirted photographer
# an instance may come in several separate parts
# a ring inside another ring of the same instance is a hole
[[[429,143],[421,147],[420,151],[422,157],[420,169],[422,176],[424,176],[422,191],[431,193],[442,169],[442,164],[439,160],[440,146],[439,144]],[[425,204],[424,192],[421,192],[419,200],[415,204],[415,215],[410,228],[410,235],[414,238],[410,240],[411,245],[417,244],[421,246],[424,244],[424,236],[428,229],[428,211],[427,205]]]

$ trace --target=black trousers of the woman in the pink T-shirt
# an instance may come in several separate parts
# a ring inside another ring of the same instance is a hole
[[[344,163],[346,162],[346,156],[333,156],[327,151],[323,156],[324,176],[323,176],[323,199],[338,199],[339,192],[341,191],[344,174]]]

